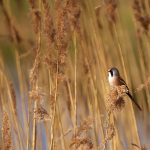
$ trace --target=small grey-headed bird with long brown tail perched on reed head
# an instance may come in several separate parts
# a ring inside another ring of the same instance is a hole
[[[132,102],[134,102],[134,104],[138,107],[138,109],[140,111],[142,110],[139,104],[133,99],[132,95],[130,94],[129,88],[126,82],[120,77],[120,73],[117,68],[113,67],[108,70],[108,81],[111,87],[125,85],[127,88],[126,94],[129,96]]]

